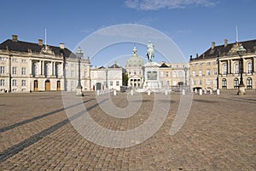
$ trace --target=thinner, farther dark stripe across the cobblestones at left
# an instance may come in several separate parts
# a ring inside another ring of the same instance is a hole
[[[38,116],[38,117],[32,117],[32,118],[26,119],[25,121],[21,121],[21,122],[19,122],[19,123],[15,123],[15,124],[12,124],[12,125],[9,125],[9,126],[0,128],[0,133],[3,133],[3,132],[6,132],[6,131],[8,131],[8,130],[10,130],[10,129],[19,127],[19,126],[24,125],[24,124],[26,124],[26,123],[32,123],[33,121],[36,121],[36,120],[38,120],[38,119],[41,119],[41,118],[44,118],[44,117],[48,117],[49,115],[56,114],[56,113],[58,113],[58,112],[60,112],[60,111],[65,111],[66,109],[72,108],[72,107],[74,107],[74,106],[76,106],[76,105],[81,105],[81,104],[83,104],[83,103],[87,103],[87,102],[89,102],[89,101],[91,101],[91,100],[93,100],[93,99],[85,100],[85,101],[83,101],[82,103],[75,104],[75,105],[70,105],[70,106],[67,106],[67,107],[63,107],[63,108],[57,109],[57,110],[55,110],[55,111],[49,111],[48,113],[44,113],[43,115],[40,115],[40,116]]]

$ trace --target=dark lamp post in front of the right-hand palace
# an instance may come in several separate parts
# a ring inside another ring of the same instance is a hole
[[[237,95],[244,95],[245,94],[245,85],[243,84],[242,81],[242,72],[243,72],[243,60],[242,60],[242,55],[246,52],[247,50],[243,48],[243,46],[239,46],[237,49],[237,54],[240,56],[239,60],[239,68],[240,68],[240,83],[239,83],[239,91]]]

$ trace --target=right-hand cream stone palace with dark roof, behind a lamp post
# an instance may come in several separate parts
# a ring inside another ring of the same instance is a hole
[[[247,49],[242,56],[243,83],[246,88],[256,87],[256,39],[241,43],[228,43],[212,47],[195,58],[190,57],[190,84],[191,88],[202,89],[234,89],[240,82],[240,56],[238,47],[242,45]]]

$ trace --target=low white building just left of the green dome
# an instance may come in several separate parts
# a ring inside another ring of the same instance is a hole
[[[113,66],[90,69],[91,90],[116,89],[123,85],[123,68],[115,62]]]

